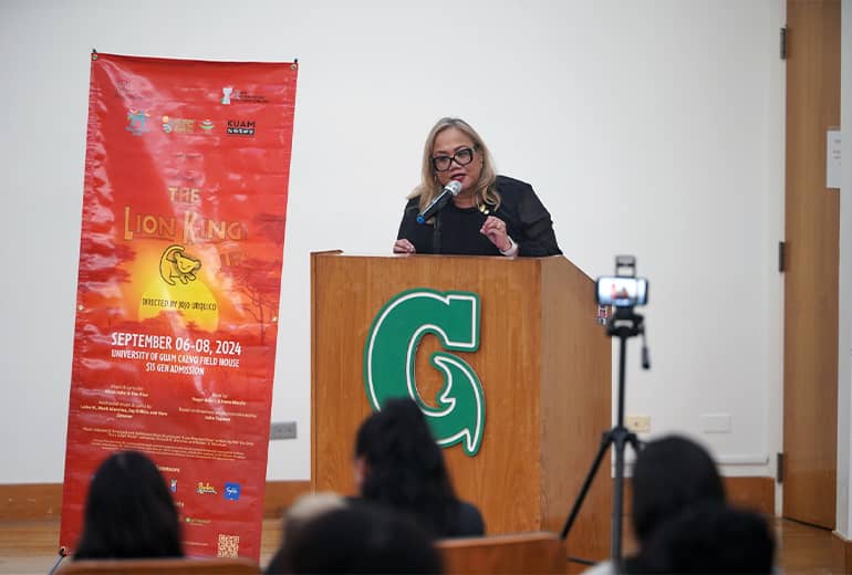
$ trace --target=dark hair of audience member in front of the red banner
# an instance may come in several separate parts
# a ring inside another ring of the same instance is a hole
[[[75,560],[183,557],[175,502],[154,462],[113,453],[92,478]]]

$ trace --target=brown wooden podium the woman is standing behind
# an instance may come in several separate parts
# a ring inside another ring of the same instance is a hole
[[[355,431],[372,412],[366,338],[389,300],[420,288],[480,302],[479,348],[453,352],[478,375],[486,406],[478,453],[444,451],[458,495],[479,506],[489,534],[561,531],[612,425],[612,345],[594,282],[562,257],[311,254],[312,489],[354,492]],[[416,352],[417,390],[433,406],[443,375],[429,356],[440,351],[425,335]],[[571,555],[609,555],[610,485],[604,463],[569,534]]]

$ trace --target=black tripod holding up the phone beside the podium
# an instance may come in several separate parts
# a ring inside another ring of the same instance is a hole
[[[642,367],[647,369],[651,365],[648,360],[647,347],[644,345],[645,327],[643,325],[644,318],[633,311],[633,307],[616,307],[615,314],[606,324],[606,335],[610,337],[617,336],[620,341],[620,357],[619,357],[619,417],[615,427],[604,432],[601,439],[601,447],[598,449],[598,454],[594,458],[589,473],[585,475],[583,487],[580,490],[580,494],[574,501],[571,513],[565,521],[565,526],[562,527],[562,534],[560,539],[563,541],[568,537],[571,526],[574,524],[578,513],[580,513],[580,506],[583,504],[589,488],[592,484],[598,468],[601,466],[603,456],[611,445],[615,446],[615,481],[613,482],[613,508],[612,508],[612,525],[611,525],[611,560],[616,572],[621,571],[621,525],[623,514],[623,495],[624,495],[624,449],[627,443],[633,447],[634,451],[640,450],[640,440],[636,435],[628,431],[624,427],[624,364],[627,351],[627,338],[642,334],[643,347],[642,347]]]

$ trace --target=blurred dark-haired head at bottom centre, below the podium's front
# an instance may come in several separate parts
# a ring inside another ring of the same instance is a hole
[[[284,541],[282,571],[267,573],[440,573],[432,536],[411,518],[365,501],[322,513]]]

